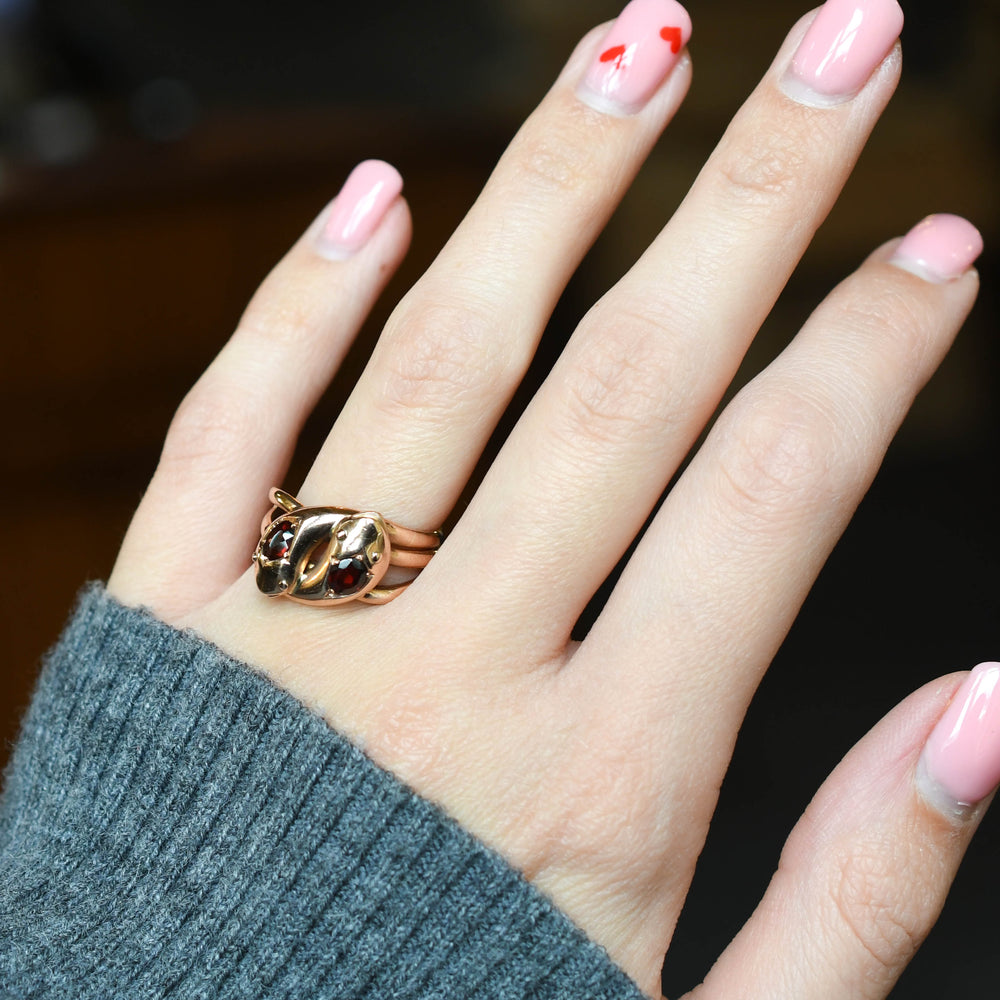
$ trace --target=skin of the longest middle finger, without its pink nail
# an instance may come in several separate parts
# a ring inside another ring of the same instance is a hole
[[[861,92],[821,110],[790,100],[783,81],[807,26],[790,33],[674,218],[585,318],[466,518],[456,548],[495,540],[482,594],[501,607],[498,631],[527,618],[565,641],[715,409],[892,94],[899,22],[866,21],[878,44],[866,48],[874,76]]]

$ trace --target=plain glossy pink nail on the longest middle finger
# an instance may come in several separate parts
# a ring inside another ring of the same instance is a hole
[[[868,82],[903,30],[896,0],[827,0],[782,80],[800,104],[830,107]]]

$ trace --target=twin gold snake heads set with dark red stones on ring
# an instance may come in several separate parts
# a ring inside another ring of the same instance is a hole
[[[262,593],[333,604],[378,585],[389,566],[388,533],[379,514],[303,507],[280,492],[275,503],[253,554]]]

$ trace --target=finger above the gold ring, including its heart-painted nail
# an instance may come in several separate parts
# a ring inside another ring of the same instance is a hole
[[[666,27],[674,34],[662,37]],[[689,34],[675,0],[634,0],[610,33],[581,42],[395,310],[304,499],[335,496],[404,524],[441,523],[563,287],[680,104]],[[617,51],[625,42],[627,58]],[[359,442],[378,460],[362,460]]]

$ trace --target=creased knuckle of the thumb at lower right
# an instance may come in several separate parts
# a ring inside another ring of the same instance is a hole
[[[892,844],[854,849],[837,860],[830,895],[834,920],[848,941],[870,959],[873,980],[895,975],[927,936],[933,915],[903,884],[907,858]]]

